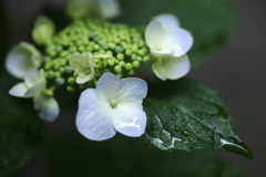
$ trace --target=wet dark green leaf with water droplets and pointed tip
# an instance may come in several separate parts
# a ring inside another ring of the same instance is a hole
[[[149,85],[144,100],[147,127],[143,138],[161,149],[223,148],[253,158],[232,131],[232,117],[216,91],[182,79]]]

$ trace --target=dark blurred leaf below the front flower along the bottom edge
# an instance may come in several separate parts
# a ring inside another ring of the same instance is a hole
[[[167,153],[147,148],[140,138],[119,134],[99,143],[78,132],[51,133],[45,136],[41,153],[50,177],[246,177],[207,152]]]

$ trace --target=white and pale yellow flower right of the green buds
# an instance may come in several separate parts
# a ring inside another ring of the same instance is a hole
[[[157,61],[153,72],[161,80],[176,80],[191,69],[186,52],[193,45],[191,33],[180,27],[173,14],[161,14],[149,23],[145,42]]]

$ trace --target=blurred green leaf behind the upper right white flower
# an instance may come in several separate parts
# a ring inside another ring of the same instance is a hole
[[[182,28],[192,32],[194,45],[188,52],[193,65],[201,64],[221,48],[234,24],[232,0],[121,0],[123,13],[117,20],[147,25],[154,15],[174,13]]]

